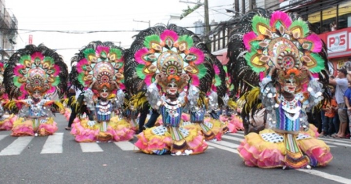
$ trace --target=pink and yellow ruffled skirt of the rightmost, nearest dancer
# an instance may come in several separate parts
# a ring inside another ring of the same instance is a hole
[[[312,124],[298,135],[280,134],[271,129],[249,133],[238,147],[239,155],[248,166],[262,168],[303,168],[307,165],[325,166],[333,158],[329,146],[316,139]]]

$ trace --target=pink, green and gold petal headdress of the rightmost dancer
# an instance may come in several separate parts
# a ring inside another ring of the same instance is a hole
[[[254,16],[252,29],[243,36],[243,42],[248,50],[245,59],[254,72],[266,72],[275,65],[279,79],[293,77],[303,84],[308,81],[308,74],[300,71],[303,66],[312,73],[324,69],[325,62],[318,54],[322,41],[310,33],[305,21],[292,21],[288,14],[276,11],[271,19]]]

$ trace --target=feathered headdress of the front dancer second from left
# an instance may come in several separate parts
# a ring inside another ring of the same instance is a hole
[[[98,95],[98,90],[106,87],[112,93],[124,89],[123,52],[112,42],[93,41],[80,50],[74,60],[77,61],[72,75],[78,74],[78,86],[91,88]]]

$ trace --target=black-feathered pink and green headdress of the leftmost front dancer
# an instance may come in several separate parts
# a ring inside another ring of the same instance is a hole
[[[23,99],[34,91],[39,91],[42,96],[54,92],[63,94],[68,71],[55,51],[42,44],[38,47],[27,45],[11,56],[4,76],[10,98]]]

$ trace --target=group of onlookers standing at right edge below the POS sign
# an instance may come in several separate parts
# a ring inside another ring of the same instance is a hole
[[[351,72],[346,67],[337,70],[337,77],[330,77],[327,92],[331,97],[322,104],[320,112],[313,113],[321,136],[350,139],[351,119]],[[320,117],[318,115],[320,114]]]

